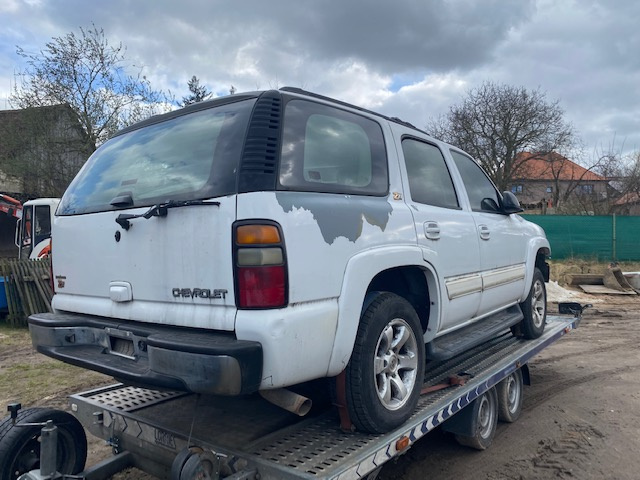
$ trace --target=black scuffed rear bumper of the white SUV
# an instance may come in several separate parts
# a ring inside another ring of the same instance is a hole
[[[262,378],[261,344],[232,334],[53,313],[29,331],[38,352],[134,385],[242,395]]]

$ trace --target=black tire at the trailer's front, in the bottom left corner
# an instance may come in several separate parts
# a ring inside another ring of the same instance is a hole
[[[18,423],[44,423],[47,420],[53,420],[58,427],[58,472],[81,472],[87,460],[87,437],[73,415],[49,408],[28,408],[18,412]],[[40,468],[41,429],[39,426],[15,426],[11,417],[0,422],[0,480],[15,480]]]

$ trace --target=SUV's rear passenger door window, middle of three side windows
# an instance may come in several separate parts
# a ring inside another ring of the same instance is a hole
[[[411,138],[402,141],[414,202],[444,208],[459,208],[449,169],[440,149]]]

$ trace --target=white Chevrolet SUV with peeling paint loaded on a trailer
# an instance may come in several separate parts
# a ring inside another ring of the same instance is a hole
[[[387,431],[428,359],[542,333],[549,243],[519,211],[397,119],[292,88],[198,103],[121,131],[69,186],[32,339],[206,394],[344,371],[354,424]]]

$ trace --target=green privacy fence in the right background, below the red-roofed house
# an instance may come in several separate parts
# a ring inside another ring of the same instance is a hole
[[[551,257],[601,261],[640,260],[640,217],[523,215],[544,228]]]

